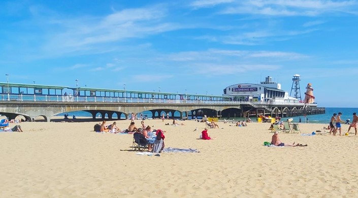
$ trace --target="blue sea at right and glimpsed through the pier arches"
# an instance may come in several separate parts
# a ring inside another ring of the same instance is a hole
[[[298,122],[299,119],[301,118],[302,119],[302,122],[305,123],[307,122],[307,118],[308,118],[308,123],[319,123],[319,124],[324,124],[324,123],[329,123],[330,122],[330,119],[332,117],[332,115],[334,113],[339,113],[341,112],[342,113],[342,116],[341,116],[341,120],[347,120],[347,119],[350,119],[350,121],[352,120],[352,117],[353,117],[353,113],[358,113],[358,108],[331,108],[331,107],[327,107],[326,108],[326,113],[325,114],[317,114],[317,115],[307,115],[306,117],[304,116],[297,116],[297,117],[289,117],[289,118],[293,118],[294,122]],[[60,114],[57,114],[56,116],[63,116],[64,114],[67,114],[67,113],[60,113]],[[85,112],[85,111],[73,111],[73,112],[68,112],[69,114],[69,118],[71,118],[73,115],[75,115],[76,117],[89,117],[91,118],[92,115],[88,112]],[[152,113],[150,111],[144,111],[142,112],[143,114],[143,117],[145,115],[147,115],[147,117],[150,119],[152,118]],[[160,113],[161,114],[161,113]],[[97,116],[100,116],[99,114]],[[157,116],[157,115],[155,115]],[[180,114],[179,112],[175,112],[174,113],[174,116],[175,117],[179,117]],[[185,116],[185,114],[183,115]],[[138,114],[138,117],[139,117],[139,114]],[[191,116],[189,116],[190,118]],[[116,117],[116,114],[114,114],[113,118],[117,118]],[[122,115],[120,119],[124,119],[125,117]],[[198,117],[198,119],[201,119],[201,117]],[[235,119],[235,120],[243,120],[245,118],[230,118],[230,119]],[[288,119],[287,118],[283,118],[284,120],[285,119]],[[252,121],[255,121],[255,119],[252,119]]]

